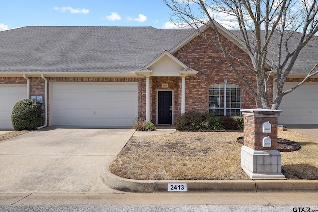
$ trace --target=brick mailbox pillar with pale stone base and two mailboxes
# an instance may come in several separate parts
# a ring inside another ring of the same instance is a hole
[[[286,179],[277,150],[277,119],[281,110],[246,109],[241,166],[251,179]]]

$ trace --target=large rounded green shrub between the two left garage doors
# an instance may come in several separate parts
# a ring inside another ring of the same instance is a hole
[[[35,130],[41,121],[41,112],[41,104],[34,99],[18,101],[11,115],[14,130]]]

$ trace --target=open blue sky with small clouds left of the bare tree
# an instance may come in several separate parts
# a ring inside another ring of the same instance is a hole
[[[171,28],[162,0],[5,0],[0,31],[24,26],[153,26]]]

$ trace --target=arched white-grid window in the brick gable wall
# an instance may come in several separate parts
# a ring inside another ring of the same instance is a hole
[[[209,112],[215,116],[240,116],[241,87],[217,84],[209,87]]]

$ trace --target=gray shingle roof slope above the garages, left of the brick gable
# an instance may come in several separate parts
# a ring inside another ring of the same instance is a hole
[[[0,72],[130,72],[192,30],[27,26],[0,32]]]

